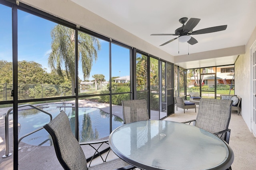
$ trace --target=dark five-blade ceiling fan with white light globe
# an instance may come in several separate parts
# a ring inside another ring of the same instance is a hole
[[[176,40],[177,38],[179,38],[179,42],[188,42],[188,44],[194,45],[198,43],[198,41],[190,35],[218,32],[218,31],[226,30],[227,28],[227,25],[222,25],[222,26],[214,26],[210,28],[204,28],[201,30],[193,31],[193,29],[196,27],[196,25],[199,23],[200,20],[201,19],[199,18],[190,18],[189,20],[186,17],[180,18],[179,22],[182,24],[182,27],[176,29],[175,34],[151,34],[151,36],[178,36],[176,38],[173,38],[172,40],[165,42],[164,44],[161,44],[160,46],[164,46]]]

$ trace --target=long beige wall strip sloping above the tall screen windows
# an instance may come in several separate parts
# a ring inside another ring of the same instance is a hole
[[[70,0],[20,0],[48,14],[174,63],[174,57]]]

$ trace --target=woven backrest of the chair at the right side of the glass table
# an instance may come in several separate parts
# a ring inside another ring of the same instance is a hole
[[[232,100],[201,98],[195,126],[211,133],[228,129],[231,106]]]

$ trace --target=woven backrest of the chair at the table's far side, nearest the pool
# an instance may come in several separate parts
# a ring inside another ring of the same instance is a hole
[[[122,100],[124,123],[149,120],[148,106],[145,99]]]

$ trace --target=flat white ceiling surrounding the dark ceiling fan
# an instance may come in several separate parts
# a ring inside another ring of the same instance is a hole
[[[245,45],[256,27],[256,0],[72,0],[98,16],[112,22],[124,30],[168,52],[172,56],[193,54]],[[209,34],[193,35],[197,44],[178,43],[178,39],[159,46],[177,36],[150,36],[150,34],[174,34],[181,27],[182,17],[200,18],[194,30],[212,26],[228,25],[227,29]],[[178,53],[179,51],[179,53]],[[225,56],[215,61],[220,65],[232,64],[237,56]],[[228,60],[227,60],[228,59]],[[209,60],[194,61],[185,68],[204,66]],[[212,65],[213,66],[213,65]]]

